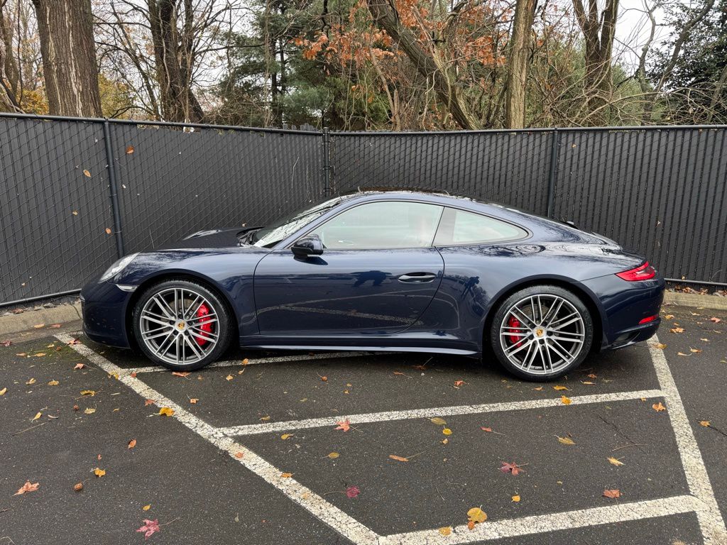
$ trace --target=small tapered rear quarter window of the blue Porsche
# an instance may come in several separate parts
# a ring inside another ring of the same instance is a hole
[[[487,244],[525,238],[527,231],[482,214],[446,208],[437,230],[435,246]]]

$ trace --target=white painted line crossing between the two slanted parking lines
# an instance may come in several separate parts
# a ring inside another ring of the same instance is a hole
[[[661,390],[645,389],[636,392],[614,392],[612,394],[574,395],[570,405],[586,403],[604,403],[608,401],[626,401],[642,397],[662,397]],[[408,420],[432,418],[433,416],[457,416],[462,414],[494,413],[499,411],[522,411],[524,409],[544,407],[565,407],[560,397],[548,397],[529,401],[510,401],[507,403],[484,403],[483,405],[454,405],[452,407],[434,407],[413,409],[411,411],[385,411],[381,413],[350,414],[348,416],[328,416],[318,419],[290,420],[284,422],[268,422],[265,424],[244,424],[220,428],[225,435],[253,435],[257,433],[282,432],[289,429],[305,429],[335,426],[338,422],[348,420],[350,424],[366,424],[391,420]]]

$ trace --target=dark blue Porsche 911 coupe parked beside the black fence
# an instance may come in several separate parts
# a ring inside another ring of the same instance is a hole
[[[542,381],[654,335],[663,294],[646,259],[601,235],[470,198],[364,191],[126,256],[81,301],[91,339],[177,371],[239,342],[494,353]]]

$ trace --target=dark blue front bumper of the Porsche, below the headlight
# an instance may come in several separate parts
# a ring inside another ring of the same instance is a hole
[[[110,282],[94,281],[81,290],[84,334],[114,347],[129,348],[126,309],[132,293]]]

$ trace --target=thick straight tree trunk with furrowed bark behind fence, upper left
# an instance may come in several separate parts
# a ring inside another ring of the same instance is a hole
[[[101,117],[90,0],[33,0],[52,115]]]

